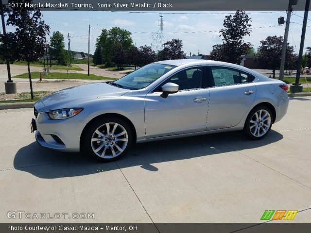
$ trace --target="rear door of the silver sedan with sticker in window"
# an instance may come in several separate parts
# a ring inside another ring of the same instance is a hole
[[[254,76],[229,67],[209,67],[207,130],[236,126],[253,104]]]

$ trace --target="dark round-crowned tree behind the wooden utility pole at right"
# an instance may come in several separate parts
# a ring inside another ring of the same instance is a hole
[[[283,46],[282,36],[268,36],[265,40],[260,41],[261,46],[258,47],[259,55],[256,61],[263,69],[272,69],[273,78],[276,77],[276,69],[280,67],[281,52]],[[285,64],[288,64],[289,69],[295,64],[296,55],[294,54],[294,47],[287,43]]]

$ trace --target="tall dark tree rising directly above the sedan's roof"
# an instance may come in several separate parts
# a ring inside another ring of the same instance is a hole
[[[212,60],[240,64],[242,55],[251,48],[251,43],[244,43],[243,37],[250,35],[251,18],[244,11],[238,10],[234,16],[225,17],[224,28],[220,30],[223,44],[213,46],[210,52]]]

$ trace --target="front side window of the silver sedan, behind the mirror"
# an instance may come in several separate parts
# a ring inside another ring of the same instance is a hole
[[[179,85],[179,90],[202,88],[203,83],[203,67],[195,67],[179,71],[164,83],[176,83]],[[159,88],[156,88],[159,91]]]

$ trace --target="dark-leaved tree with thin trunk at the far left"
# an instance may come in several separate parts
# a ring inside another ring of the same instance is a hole
[[[6,33],[5,36],[2,34],[0,37],[2,43],[6,43],[5,56],[8,56],[10,61],[27,62],[31,99],[34,99],[30,62],[35,62],[44,55],[44,40],[50,27],[41,19],[39,8],[27,8],[26,4],[19,4],[32,3],[32,0],[10,0],[10,2],[19,6],[14,8],[14,11],[8,7],[4,8],[8,16],[6,25],[15,27],[15,32]]]

